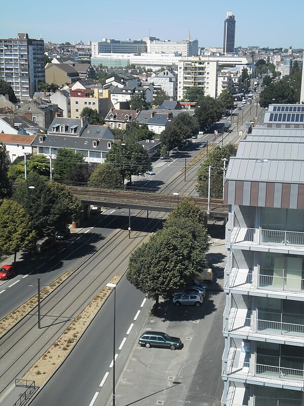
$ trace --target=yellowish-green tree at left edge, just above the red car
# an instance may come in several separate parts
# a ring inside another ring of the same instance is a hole
[[[0,206],[0,253],[16,254],[22,248],[31,247],[35,240],[29,216],[15,200],[5,199]]]

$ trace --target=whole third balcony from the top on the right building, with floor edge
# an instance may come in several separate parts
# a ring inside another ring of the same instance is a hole
[[[304,345],[304,325],[283,323],[270,320],[252,319],[252,317],[239,317],[232,309],[229,317],[225,319],[224,334],[231,337],[241,337],[247,340],[274,341],[287,345]],[[238,310],[241,313],[242,310]]]

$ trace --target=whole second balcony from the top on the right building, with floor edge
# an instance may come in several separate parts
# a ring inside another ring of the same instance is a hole
[[[226,292],[252,296],[274,296],[275,293],[276,297],[282,299],[304,299],[301,269],[297,272],[298,277],[288,275],[288,269],[284,270],[285,276],[269,275],[270,271],[273,272],[262,268],[256,272],[252,269],[232,268],[231,272],[225,272],[224,289]],[[263,275],[264,273],[268,275]]]

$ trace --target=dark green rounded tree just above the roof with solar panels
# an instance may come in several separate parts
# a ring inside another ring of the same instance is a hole
[[[268,107],[272,103],[295,104],[299,99],[295,90],[284,80],[277,80],[265,87],[259,95],[261,107]]]

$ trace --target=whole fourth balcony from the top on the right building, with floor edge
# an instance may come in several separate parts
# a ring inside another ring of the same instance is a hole
[[[222,376],[228,381],[239,381],[253,385],[275,386],[277,388],[293,390],[302,390],[304,384],[303,369],[253,364],[247,361],[224,360]]]

